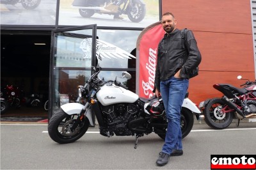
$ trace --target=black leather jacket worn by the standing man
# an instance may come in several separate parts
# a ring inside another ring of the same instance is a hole
[[[160,91],[160,81],[170,79],[180,68],[180,77],[189,79],[189,72],[200,62],[201,54],[192,31],[186,30],[184,40],[179,29],[166,33],[158,45],[155,88]]]

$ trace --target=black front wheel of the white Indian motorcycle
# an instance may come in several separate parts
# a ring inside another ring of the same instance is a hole
[[[70,127],[77,120],[77,114],[68,115],[62,109],[56,112],[49,121],[48,133],[53,141],[60,144],[73,143],[80,139],[88,130],[89,120],[84,117],[81,125],[78,125],[73,132]]]

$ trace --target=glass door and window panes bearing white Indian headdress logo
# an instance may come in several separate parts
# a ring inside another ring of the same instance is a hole
[[[141,31],[97,29],[60,29],[54,34],[52,54],[51,114],[61,105],[76,102],[77,86],[84,85],[92,73],[92,66],[102,67],[99,77],[105,81],[122,82],[135,92],[136,40]],[[77,29],[77,28],[74,28]],[[64,30],[64,31],[63,31]],[[94,44],[95,41],[95,45]],[[95,47],[94,47],[95,46]],[[95,49],[95,51],[93,51]],[[132,79],[122,79],[128,71]]]

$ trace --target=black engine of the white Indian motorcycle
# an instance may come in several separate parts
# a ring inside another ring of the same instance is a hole
[[[134,119],[140,109],[134,104],[114,104],[102,109],[104,118],[109,127],[109,132],[116,135],[131,135],[127,122]]]

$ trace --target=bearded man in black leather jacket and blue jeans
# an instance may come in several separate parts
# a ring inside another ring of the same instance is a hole
[[[177,20],[170,12],[163,14],[161,22],[166,34],[158,46],[155,94],[163,98],[168,128],[157,166],[167,164],[170,156],[183,154],[180,110],[191,72],[201,62],[192,31],[185,29],[182,37],[181,30],[176,28]]]

